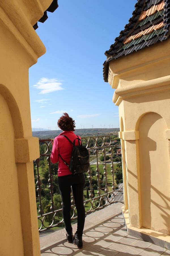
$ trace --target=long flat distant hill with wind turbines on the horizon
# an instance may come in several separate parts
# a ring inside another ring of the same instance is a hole
[[[77,135],[98,135],[98,134],[108,134],[120,131],[119,128],[90,128],[90,129],[76,129],[75,134]],[[54,131],[33,131],[32,134],[34,137],[39,138],[54,138],[62,133],[61,130],[54,130]]]

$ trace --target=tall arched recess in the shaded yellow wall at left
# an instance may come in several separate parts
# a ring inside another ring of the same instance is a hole
[[[18,182],[18,177],[21,175],[18,172],[14,147],[15,137],[22,137],[22,122],[14,97],[2,84],[0,84],[0,120],[1,198],[5,198],[3,211],[0,213],[0,218],[3,219],[1,251],[6,251],[6,241],[8,241],[10,244],[9,255],[24,255],[19,197],[21,183]],[[21,132],[19,132],[20,129]],[[11,213],[9,209],[12,209]],[[19,248],[16,248],[16,240],[14,239],[16,230]]]

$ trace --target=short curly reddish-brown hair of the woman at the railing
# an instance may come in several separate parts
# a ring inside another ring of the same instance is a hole
[[[67,113],[63,113],[63,115],[58,119],[58,127],[63,131],[75,131],[75,120],[71,118]]]

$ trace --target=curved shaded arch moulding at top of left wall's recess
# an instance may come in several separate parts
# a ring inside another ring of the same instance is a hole
[[[24,131],[23,131],[23,125],[22,125],[22,118],[21,118],[20,110],[18,108],[18,104],[16,103],[14,96],[12,95],[10,90],[3,84],[0,84],[0,94],[3,96],[3,98],[7,102],[10,115],[12,118],[15,139],[23,138]]]

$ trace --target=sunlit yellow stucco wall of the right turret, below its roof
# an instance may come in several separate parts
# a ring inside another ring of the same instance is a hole
[[[170,40],[109,64],[129,225],[170,235]],[[124,170],[126,169],[126,170]],[[127,188],[126,188],[127,184]],[[126,195],[127,191],[127,195]],[[158,234],[156,235],[158,237]]]

